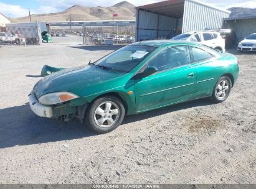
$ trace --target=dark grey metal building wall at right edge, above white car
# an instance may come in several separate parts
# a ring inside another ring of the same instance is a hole
[[[256,18],[224,21],[224,29],[232,29],[237,34],[237,44],[252,33],[256,33]]]

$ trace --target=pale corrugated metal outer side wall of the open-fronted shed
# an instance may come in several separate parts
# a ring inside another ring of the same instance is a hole
[[[222,19],[228,18],[229,13],[186,0],[183,15],[183,33],[205,29],[220,29]]]

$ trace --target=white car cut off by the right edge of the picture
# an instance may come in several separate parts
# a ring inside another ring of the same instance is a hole
[[[250,34],[242,40],[237,47],[240,51],[255,51],[256,52],[256,33]]]

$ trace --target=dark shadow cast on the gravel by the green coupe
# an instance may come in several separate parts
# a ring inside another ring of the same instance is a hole
[[[181,109],[212,104],[208,99],[198,99],[187,103],[176,104],[146,113],[126,116],[123,124],[153,118]],[[69,141],[95,136],[77,119],[65,123],[58,120],[40,118],[32,113],[29,104],[0,109],[0,149],[15,145],[43,144],[47,142]],[[115,132],[115,131],[113,131]]]

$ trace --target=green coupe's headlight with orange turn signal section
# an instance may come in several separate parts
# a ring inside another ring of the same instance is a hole
[[[70,99],[79,98],[79,96],[69,93],[69,92],[58,92],[58,93],[49,93],[44,94],[39,98],[39,102],[44,105],[53,105],[64,103]]]

